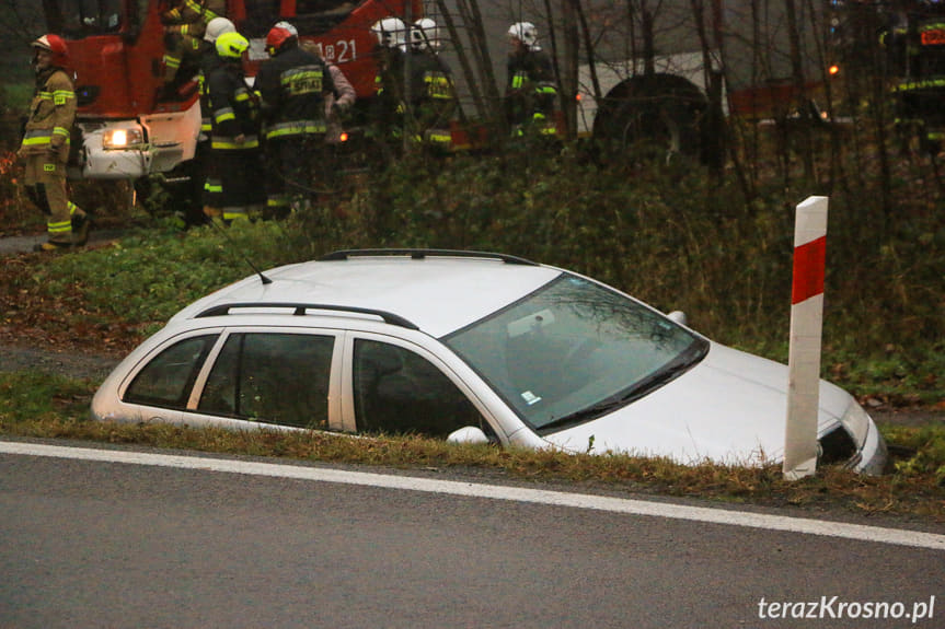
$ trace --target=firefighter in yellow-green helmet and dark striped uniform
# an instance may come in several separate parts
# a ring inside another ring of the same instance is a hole
[[[265,202],[260,153],[260,104],[243,74],[250,43],[224,33],[215,44],[221,65],[210,72],[210,148],[220,174],[220,216],[229,224],[258,213]],[[211,210],[211,216],[217,212]]]

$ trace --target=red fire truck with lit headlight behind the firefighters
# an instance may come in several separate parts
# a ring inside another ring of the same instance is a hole
[[[412,4],[407,5],[407,2]],[[139,179],[173,173],[194,156],[200,129],[196,82],[161,98],[170,0],[43,0],[50,32],[64,36],[77,72],[79,103],[70,175]],[[227,16],[251,42],[247,65],[266,57],[265,37],[291,21],[343,68],[358,98],[374,92],[370,26],[391,14],[422,16],[418,0],[228,0]],[[173,175],[171,175],[173,177]]]

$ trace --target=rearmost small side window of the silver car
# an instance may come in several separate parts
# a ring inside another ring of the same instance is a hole
[[[161,351],[135,376],[124,401],[186,408],[191,388],[217,336],[191,337]]]

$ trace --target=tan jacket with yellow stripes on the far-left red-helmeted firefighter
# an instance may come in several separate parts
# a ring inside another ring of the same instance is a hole
[[[48,68],[36,75],[30,104],[21,155],[58,152],[59,161],[69,159],[69,138],[76,120],[76,92],[72,79],[61,68]]]

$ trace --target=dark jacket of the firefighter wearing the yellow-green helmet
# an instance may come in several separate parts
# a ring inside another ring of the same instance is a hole
[[[219,151],[260,148],[260,104],[237,63],[223,63],[209,77],[212,136],[210,147]],[[239,136],[243,141],[238,142]]]

